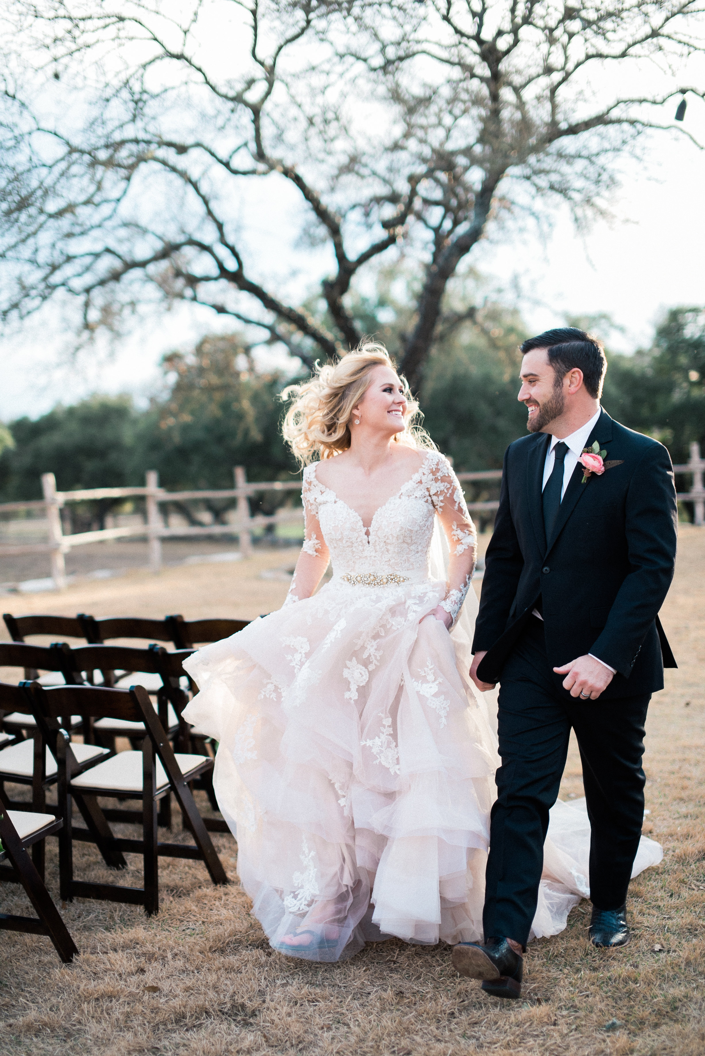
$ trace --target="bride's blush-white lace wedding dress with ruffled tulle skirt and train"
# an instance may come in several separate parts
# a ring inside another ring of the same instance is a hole
[[[471,553],[462,490],[431,451],[369,534],[315,466],[303,505],[303,549],[330,552],[332,579],[300,601],[294,581],[279,611],[184,663],[200,689],[184,716],[219,741],[214,786],[253,912],[277,948],[318,961],[388,936],[477,941],[499,757],[468,677],[477,599],[469,577],[448,585],[440,547],[439,521],[451,568]],[[450,634],[424,619],[440,603]],[[589,847],[585,800],[558,803],[534,936],[589,894]],[[661,857],[643,838],[633,874]],[[297,929],[327,941],[282,946]]]

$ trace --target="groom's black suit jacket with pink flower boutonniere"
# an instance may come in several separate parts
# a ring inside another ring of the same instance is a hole
[[[506,450],[472,642],[474,653],[487,650],[478,668],[484,681],[501,681],[539,597],[552,667],[592,653],[617,672],[602,699],[662,690],[664,666],[676,666],[657,616],[675,560],[670,456],[605,411],[586,447],[594,440],[606,463],[619,465],[581,484],[578,463],[550,539],[541,485],[551,438],[534,433]],[[553,677],[568,696],[564,676]]]

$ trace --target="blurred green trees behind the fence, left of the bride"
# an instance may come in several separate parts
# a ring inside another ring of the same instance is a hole
[[[13,422],[15,447],[0,456],[0,501],[40,498],[47,472],[60,491],[144,485],[148,469],[174,490],[231,488],[235,466],[245,466],[251,480],[296,472],[279,431],[285,379],[255,373],[237,335],[204,338],[188,355],[166,356],[163,369],[166,396],[146,411],[128,397],[96,396]],[[252,505],[270,512],[281,502],[266,494]],[[113,505],[93,511],[98,523]]]

